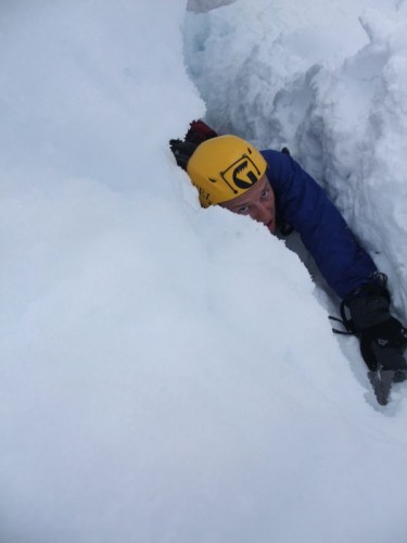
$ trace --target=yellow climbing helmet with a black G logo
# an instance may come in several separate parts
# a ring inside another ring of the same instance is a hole
[[[227,202],[249,190],[267,169],[267,162],[249,141],[218,136],[201,143],[187,172],[203,207]]]

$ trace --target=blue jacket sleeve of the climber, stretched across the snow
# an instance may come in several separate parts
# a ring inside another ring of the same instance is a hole
[[[377,267],[319,185],[290,155],[262,151],[282,220],[300,233],[340,298],[371,280]]]

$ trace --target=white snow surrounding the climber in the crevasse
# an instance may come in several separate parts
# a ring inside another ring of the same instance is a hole
[[[407,3],[1,15],[1,543],[404,543],[406,386],[377,405],[338,300],[167,142],[288,144],[406,319]]]

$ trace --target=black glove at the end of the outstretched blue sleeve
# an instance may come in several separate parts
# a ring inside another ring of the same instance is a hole
[[[346,327],[359,338],[361,356],[370,370],[407,370],[403,356],[407,330],[390,313],[390,293],[384,276],[379,277],[381,281],[364,285],[344,301],[351,313]]]

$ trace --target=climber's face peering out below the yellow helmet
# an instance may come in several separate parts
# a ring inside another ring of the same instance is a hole
[[[246,192],[220,205],[232,213],[249,215],[257,223],[263,223],[271,233],[276,231],[275,192],[266,175]]]

